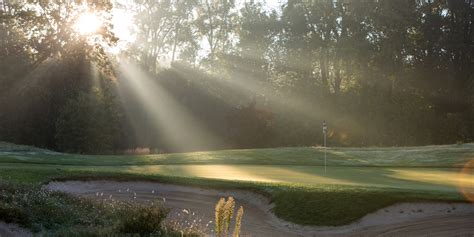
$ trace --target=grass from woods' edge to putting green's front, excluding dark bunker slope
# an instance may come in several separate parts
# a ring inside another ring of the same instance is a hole
[[[317,147],[223,150],[142,156],[83,156],[0,144],[0,168],[61,169],[178,176],[286,185],[358,187],[458,192],[472,185],[461,174],[474,157],[474,144],[408,148],[323,149]],[[472,168],[472,167],[471,167]],[[441,178],[442,177],[442,178]]]

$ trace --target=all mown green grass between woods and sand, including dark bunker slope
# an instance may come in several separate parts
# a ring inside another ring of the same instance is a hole
[[[326,173],[322,154],[320,148],[279,148],[81,156],[3,144],[0,179],[34,185],[55,179],[152,180],[248,189],[271,198],[275,214],[285,220],[343,225],[397,202],[465,201],[459,172],[474,157],[474,145],[332,149]]]

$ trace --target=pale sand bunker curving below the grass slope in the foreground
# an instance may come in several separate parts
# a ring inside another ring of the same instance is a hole
[[[340,227],[300,226],[276,217],[270,201],[242,190],[214,190],[153,182],[66,181],[51,182],[47,188],[96,199],[165,200],[171,218],[186,214],[209,225],[220,197],[233,196],[243,205],[243,236],[450,236],[474,234],[474,205],[467,203],[401,203],[368,214]],[[212,226],[212,224],[211,224]],[[212,229],[209,228],[209,229]],[[209,232],[210,233],[210,232]]]

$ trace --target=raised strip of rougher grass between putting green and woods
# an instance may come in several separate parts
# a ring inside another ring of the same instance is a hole
[[[462,167],[474,144],[402,148],[328,148],[329,166]],[[290,147],[137,156],[91,156],[51,152],[0,142],[0,162],[119,166],[181,164],[324,165],[324,148]]]

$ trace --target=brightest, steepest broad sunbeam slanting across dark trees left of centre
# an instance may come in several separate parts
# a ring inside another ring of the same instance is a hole
[[[127,96],[135,97],[143,106],[154,129],[160,132],[166,145],[175,150],[211,149],[223,145],[223,142],[202,126],[201,121],[188,113],[158,80],[153,80],[127,60],[121,61],[119,70],[123,74],[123,77],[119,77],[122,101],[126,100]],[[125,109],[130,108],[125,105]],[[133,112],[128,110],[128,113],[133,120]],[[133,126],[137,129],[140,121],[134,123]]]

